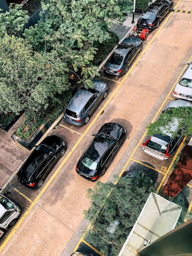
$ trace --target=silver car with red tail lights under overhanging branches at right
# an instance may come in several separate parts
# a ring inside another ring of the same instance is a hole
[[[173,118],[167,127],[162,127],[162,134],[145,137],[142,144],[143,151],[159,160],[169,159],[181,143],[187,128],[188,126],[183,125],[183,129],[180,130],[178,119]]]

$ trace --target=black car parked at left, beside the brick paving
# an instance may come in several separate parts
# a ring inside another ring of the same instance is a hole
[[[22,164],[17,173],[18,180],[31,189],[40,188],[66,149],[65,141],[59,136],[46,137]]]

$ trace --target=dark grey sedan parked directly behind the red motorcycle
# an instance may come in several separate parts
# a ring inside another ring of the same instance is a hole
[[[103,69],[105,74],[122,76],[126,74],[137,54],[143,49],[139,38],[127,37],[114,50]]]

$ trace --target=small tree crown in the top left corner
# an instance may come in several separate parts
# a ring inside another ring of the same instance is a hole
[[[9,11],[0,13],[0,37],[5,34],[21,36],[25,23],[29,20],[27,11],[21,10],[21,4],[10,4]]]

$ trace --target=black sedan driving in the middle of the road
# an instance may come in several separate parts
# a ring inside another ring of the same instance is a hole
[[[125,141],[126,131],[119,124],[107,123],[93,136],[94,139],[76,166],[77,173],[91,182],[105,173],[118,148]]]

